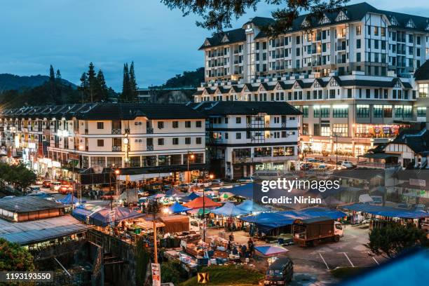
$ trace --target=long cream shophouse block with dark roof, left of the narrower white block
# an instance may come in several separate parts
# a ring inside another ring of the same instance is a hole
[[[1,153],[41,175],[120,169],[121,179],[175,177],[206,168],[205,116],[184,104],[69,104],[4,109]],[[188,172],[189,170],[189,172]]]

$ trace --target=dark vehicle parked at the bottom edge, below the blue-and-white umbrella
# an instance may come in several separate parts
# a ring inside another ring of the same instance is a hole
[[[294,264],[287,257],[282,257],[268,266],[265,274],[264,285],[285,285],[292,280]]]

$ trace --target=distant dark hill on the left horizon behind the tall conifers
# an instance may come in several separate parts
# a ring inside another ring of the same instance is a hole
[[[49,76],[15,76],[14,74],[0,74],[0,93],[4,90],[22,90],[41,86],[49,80]],[[74,83],[65,79],[61,80],[65,86],[76,88]]]

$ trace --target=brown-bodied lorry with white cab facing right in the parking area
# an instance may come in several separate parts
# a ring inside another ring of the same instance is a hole
[[[294,243],[302,247],[316,246],[323,240],[339,242],[343,237],[343,226],[330,217],[295,219],[292,233]]]

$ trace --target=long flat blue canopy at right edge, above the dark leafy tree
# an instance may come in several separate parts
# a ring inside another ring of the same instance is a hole
[[[356,212],[367,212],[369,214],[381,215],[383,217],[398,217],[400,219],[422,219],[429,217],[429,212],[422,210],[406,210],[397,207],[383,207],[381,205],[368,205],[365,203],[355,203],[344,206],[345,210],[354,210]]]

